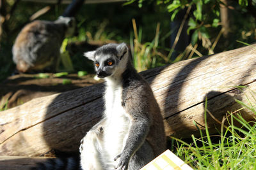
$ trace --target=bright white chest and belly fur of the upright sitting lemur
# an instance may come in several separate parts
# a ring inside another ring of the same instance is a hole
[[[106,101],[104,114],[107,118],[104,147],[109,150],[109,160],[113,160],[122,152],[131,125],[131,120],[122,106],[122,90],[120,85],[107,85],[104,96]]]

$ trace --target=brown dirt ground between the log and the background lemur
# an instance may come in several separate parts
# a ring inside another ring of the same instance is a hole
[[[39,78],[38,74],[17,74],[2,81],[0,83],[0,110],[6,104],[8,108],[13,108],[36,97],[49,96],[102,82],[102,80],[94,80],[93,74],[80,77],[77,74],[61,77],[56,77],[52,73],[46,74],[49,78]]]

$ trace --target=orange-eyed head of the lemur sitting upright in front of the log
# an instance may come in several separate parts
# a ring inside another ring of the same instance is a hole
[[[94,61],[95,71],[99,78],[111,76],[124,69],[128,57],[128,47],[125,43],[108,44],[95,51],[86,52],[84,56]]]

